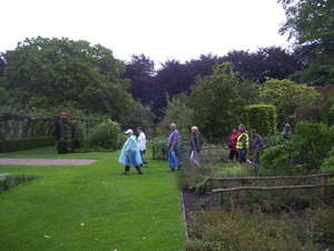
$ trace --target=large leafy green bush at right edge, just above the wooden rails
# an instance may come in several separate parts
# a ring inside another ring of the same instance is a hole
[[[281,169],[281,174],[308,174],[320,171],[334,141],[334,128],[324,123],[299,122],[291,141],[265,149],[265,168]],[[282,172],[283,171],[283,172]]]

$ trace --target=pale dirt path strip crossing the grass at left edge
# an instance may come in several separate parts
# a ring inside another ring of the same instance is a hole
[[[1,159],[0,164],[14,165],[86,165],[98,159]]]

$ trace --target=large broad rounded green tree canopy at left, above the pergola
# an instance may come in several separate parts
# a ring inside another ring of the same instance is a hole
[[[67,38],[32,38],[8,51],[2,87],[7,103],[20,108],[50,108],[72,103],[87,113],[108,113],[125,121],[134,106],[125,64],[111,50]]]

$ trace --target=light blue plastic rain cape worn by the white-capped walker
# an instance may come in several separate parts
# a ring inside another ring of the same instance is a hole
[[[125,153],[127,151],[129,151],[129,153],[126,155]],[[135,135],[129,137],[124,143],[118,162],[129,167],[138,167],[143,163]]]

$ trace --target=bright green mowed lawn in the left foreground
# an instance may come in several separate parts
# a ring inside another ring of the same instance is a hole
[[[88,165],[0,165],[40,179],[0,193],[0,250],[183,250],[185,224],[175,172],[149,161],[120,175],[119,151],[57,154],[56,148],[0,158],[91,158]]]

